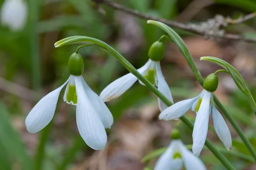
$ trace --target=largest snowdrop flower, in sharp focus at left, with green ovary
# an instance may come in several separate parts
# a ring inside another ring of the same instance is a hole
[[[81,76],[84,62],[80,54],[72,54],[68,62],[70,77],[61,87],[44,96],[26,117],[26,128],[36,133],[52,120],[61,89],[67,84],[64,102],[76,105],[76,122],[85,143],[94,150],[104,149],[107,143],[105,128],[113,124],[113,116],[105,103],[86,84]]]

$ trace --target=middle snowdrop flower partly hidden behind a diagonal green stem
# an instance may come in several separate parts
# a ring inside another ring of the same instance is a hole
[[[149,51],[148,51],[148,62],[146,62],[143,67],[139,68],[137,71],[140,72],[148,81],[150,81],[153,85],[158,87],[158,90],[163,93],[170,101],[173,102],[172,94],[170,88],[163,77],[160,60],[163,59],[164,54],[164,45],[163,42],[156,41],[154,42]],[[103,99],[104,102],[108,102],[112,99],[116,99],[121,96],[125,91],[128,90],[136,81],[138,80],[133,74],[129,73],[116,79],[111,84],[109,84],[101,94],[100,98]],[[144,85],[143,82],[139,81],[140,84]],[[164,104],[158,98],[158,105],[160,111],[163,111],[167,108],[167,105]]]

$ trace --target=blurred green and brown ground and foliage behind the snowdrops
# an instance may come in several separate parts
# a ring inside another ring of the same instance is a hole
[[[41,132],[26,131],[24,120],[35,103],[69,77],[67,62],[78,45],[54,48],[65,37],[84,35],[107,42],[136,68],[148,60],[150,45],[164,34],[146,20],[115,11],[102,4],[105,14],[90,0],[27,0],[29,19],[18,32],[0,27],[0,170],[142,170],[154,167],[157,158],[142,163],[143,156],[166,147],[173,127],[182,132],[185,144],[192,144],[192,132],[180,121],[159,121],[157,97],[148,88],[135,83],[118,99],[108,102],[115,122],[108,131],[108,145],[103,151],[87,147],[76,127],[75,107],[63,102],[63,91],[54,119]],[[116,0],[128,8],[183,23],[199,23],[215,14],[238,18],[256,11],[255,0]],[[0,4],[3,0],[0,0]],[[256,19],[225,28],[227,32],[256,38]],[[244,77],[253,96],[256,91],[255,44],[230,40],[204,40],[175,29],[187,44],[202,75],[219,69],[202,56],[230,62]],[[83,77],[97,94],[128,71],[97,47],[82,48]],[[197,95],[202,89],[177,48],[166,42],[161,62],[175,102]],[[247,98],[225,73],[219,74],[215,94],[256,147],[256,119]],[[187,114],[191,120],[194,113]],[[211,117],[211,116],[210,116]],[[224,148],[212,132],[208,138]],[[227,122],[229,125],[229,123]],[[229,126],[230,127],[230,126]],[[234,153],[224,153],[238,170],[255,170],[250,153],[230,127]],[[235,153],[242,153],[237,156]],[[200,158],[209,170],[224,170],[221,163],[204,150]]]

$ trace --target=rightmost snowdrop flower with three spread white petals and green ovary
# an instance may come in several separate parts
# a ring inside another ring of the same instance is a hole
[[[215,107],[212,92],[218,87],[218,77],[216,74],[209,74],[204,81],[204,90],[198,96],[192,99],[186,99],[175,103],[159,115],[159,119],[172,120],[183,116],[190,108],[195,111],[195,125],[193,129],[193,153],[199,156],[207,137],[209,115],[212,111],[212,118],[215,131],[221,139],[221,142],[227,148],[231,149],[232,139],[230,130],[227,127],[221,113]]]

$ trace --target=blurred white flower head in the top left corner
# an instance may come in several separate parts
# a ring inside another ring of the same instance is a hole
[[[1,23],[13,31],[20,31],[26,25],[28,6],[24,0],[5,0],[1,9]]]

